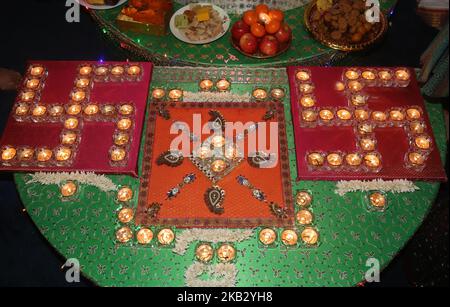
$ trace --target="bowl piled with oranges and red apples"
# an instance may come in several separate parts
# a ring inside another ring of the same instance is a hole
[[[284,13],[259,4],[245,11],[231,28],[231,43],[242,54],[253,58],[271,58],[289,49],[292,31]]]

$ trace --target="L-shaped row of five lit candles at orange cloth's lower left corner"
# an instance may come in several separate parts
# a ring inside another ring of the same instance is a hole
[[[119,207],[117,209],[118,228],[115,232],[115,239],[118,243],[132,244],[132,239],[135,237],[139,245],[149,245],[156,233],[157,244],[160,246],[170,246],[175,239],[175,233],[170,228],[161,228],[152,230],[147,227],[134,227],[132,221],[135,217],[135,210],[131,205],[133,199],[133,190],[130,187],[124,186],[117,191],[117,201]]]

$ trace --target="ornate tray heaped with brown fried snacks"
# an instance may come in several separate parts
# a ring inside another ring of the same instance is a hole
[[[388,28],[383,12],[379,11],[378,20],[370,20],[367,9],[365,0],[316,0],[305,10],[305,25],[330,48],[364,50],[379,42]]]

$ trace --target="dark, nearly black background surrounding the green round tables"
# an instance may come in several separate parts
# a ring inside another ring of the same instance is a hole
[[[30,59],[125,60],[127,54],[103,35],[88,14],[65,20],[65,0],[2,1],[0,67],[23,72]],[[338,65],[419,67],[419,57],[437,34],[415,14],[415,2],[399,0],[385,40]],[[0,91],[0,132],[16,93]],[[445,103],[448,110],[448,104]],[[448,173],[448,166],[446,167]],[[448,184],[407,246],[382,272],[381,283],[366,286],[448,286]],[[64,259],[39,233],[16,192],[11,174],[0,174],[0,286],[92,286],[68,284]]]

